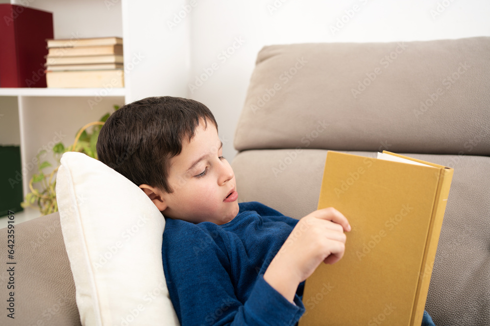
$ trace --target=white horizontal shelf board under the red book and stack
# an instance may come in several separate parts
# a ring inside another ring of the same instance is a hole
[[[125,88],[0,88],[0,96],[124,96]]]

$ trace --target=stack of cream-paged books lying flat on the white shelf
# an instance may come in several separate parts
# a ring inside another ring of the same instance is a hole
[[[48,41],[48,87],[124,87],[123,39]]]

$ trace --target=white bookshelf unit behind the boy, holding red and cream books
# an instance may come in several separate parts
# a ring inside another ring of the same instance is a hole
[[[53,13],[55,39],[122,37],[125,87],[0,87],[0,145],[21,148],[24,196],[36,170],[32,168],[36,154],[52,149],[60,134],[69,146],[80,127],[112,112],[114,105],[148,96],[186,97],[190,20],[172,31],[166,23],[185,4],[185,0],[170,4],[158,0],[28,1],[32,8]],[[52,151],[44,159],[56,164]]]

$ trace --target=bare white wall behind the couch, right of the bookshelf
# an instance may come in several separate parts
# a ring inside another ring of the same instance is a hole
[[[188,88],[187,96],[213,111],[223,155],[231,161],[236,154],[235,127],[257,52],[264,45],[490,36],[489,17],[488,0],[197,0],[188,17],[189,83],[194,84],[196,76],[205,73],[203,69],[210,71],[213,63],[218,69],[202,86]],[[342,19],[345,23],[333,32],[331,26]],[[235,43],[238,48],[224,61],[218,56],[233,46],[235,38],[244,42],[240,47]]]

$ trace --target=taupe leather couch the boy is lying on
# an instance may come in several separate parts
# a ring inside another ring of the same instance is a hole
[[[488,37],[266,46],[235,134],[239,200],[305,216],[327,150],[453,167],[426,310],[437,326],[490,325],[489,54]],[[59,215],[17,225],[16,242],[16,319],[0,324],[79,325]]]

